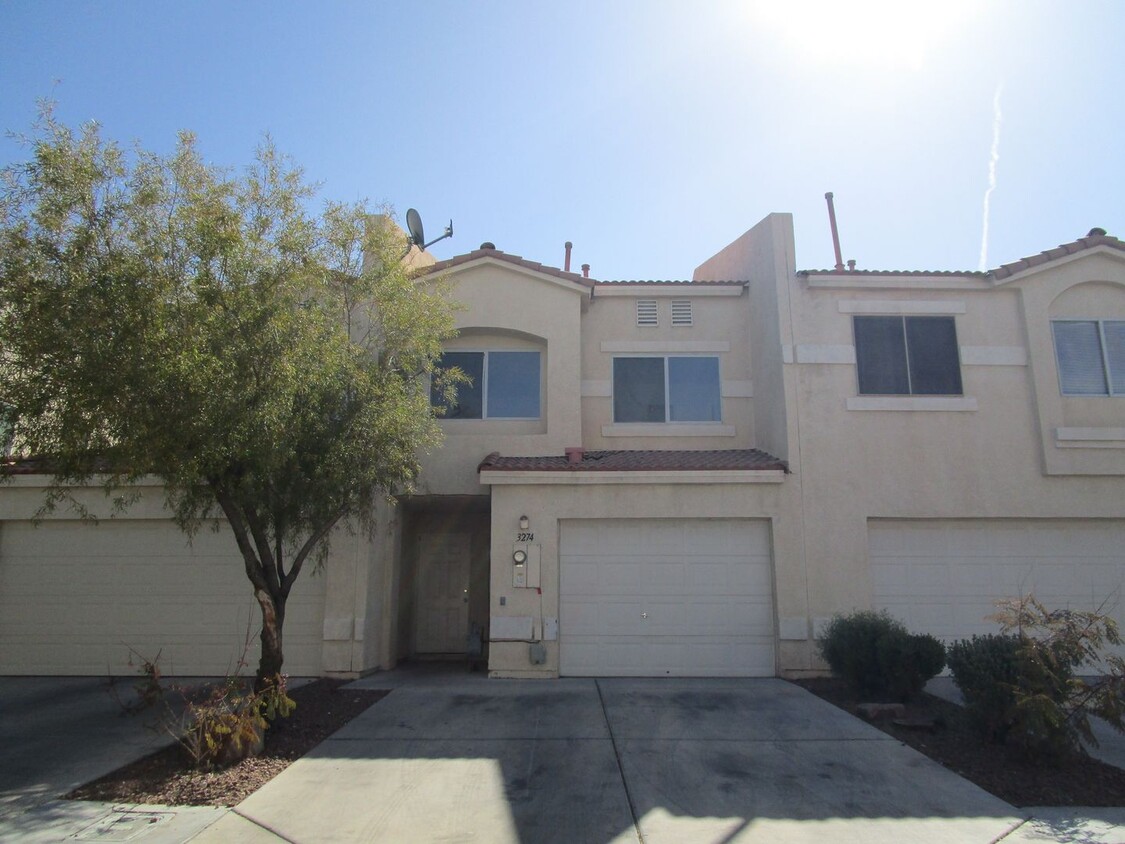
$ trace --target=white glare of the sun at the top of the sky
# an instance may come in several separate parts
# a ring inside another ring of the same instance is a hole
[[[971,0],[753,0],[750,16],[802,61],[920,70],[973,15]]]

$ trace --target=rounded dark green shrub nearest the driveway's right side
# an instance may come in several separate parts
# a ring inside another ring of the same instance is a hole
[[[945,665],[942,643],[911,635],[886,612],[834,617],[819,647],[832,673],[865,698],[909,700]]]

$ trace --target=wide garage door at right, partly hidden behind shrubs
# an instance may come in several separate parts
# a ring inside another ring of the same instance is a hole
[[[1034,593],[1048,608],[1106,604],[1125,629],[1125,521],[872,520],[874,604],[945,640],[996,632],[992,602]]]

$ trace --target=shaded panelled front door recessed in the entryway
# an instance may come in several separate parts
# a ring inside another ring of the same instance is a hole
[[[464,654],[469,631],[471,533],[418,537],[417,630],[420,654]]]

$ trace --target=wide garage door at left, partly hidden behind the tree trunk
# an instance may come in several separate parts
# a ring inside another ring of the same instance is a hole
[[[285,621],[285,670],[320,674],[324,577],[302,575]],[[128,648],[165,674],[223,674],[260,612],[228,530],[188,547],[162,520],[0,523],[0,674],[126,674]]]

